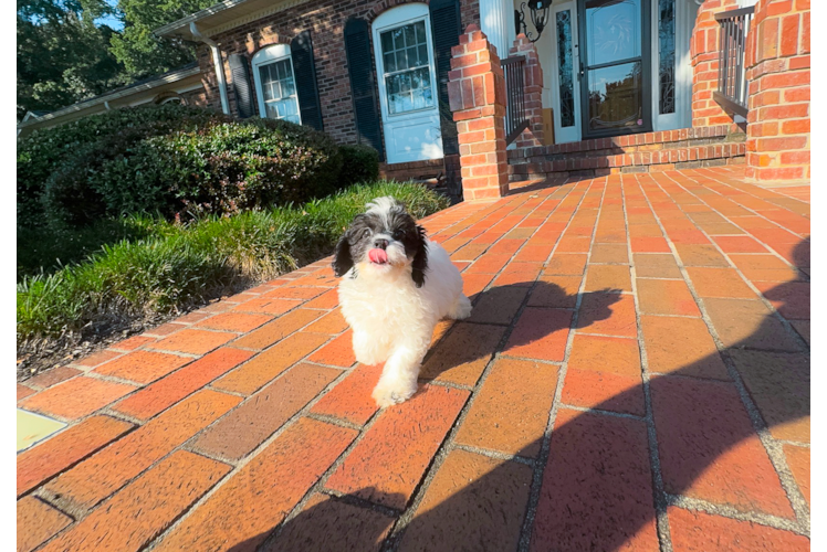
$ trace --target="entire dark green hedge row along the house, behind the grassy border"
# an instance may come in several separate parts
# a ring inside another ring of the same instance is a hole
[[[325,197],[378,174],[378,153],[292,123],[175,105],[116,109],[18,142],[18,226],[232,214]]]

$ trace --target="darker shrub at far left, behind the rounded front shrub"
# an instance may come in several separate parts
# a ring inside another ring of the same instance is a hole
[[[113,109],[32,132],[17,144],[18,226],[43,224],[42,197],[46,180],[59,170],[76,170],[74,166],[86,161],[94,166],[95,160],[86,156],[96,149],[105,149],[107,145],[124,149],[128,148],[130,139],[134,142],[148,136],[191,130],[226,120],[229,120],[227,116],[213,110],[168,104]]]

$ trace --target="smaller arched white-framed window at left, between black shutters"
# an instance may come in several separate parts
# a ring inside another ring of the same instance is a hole
[[[262,117],[302,123],[290,46],[273,44],[253,55],[253,78]]]

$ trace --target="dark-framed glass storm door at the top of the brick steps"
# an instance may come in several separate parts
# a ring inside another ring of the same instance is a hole
[[[579,22],[583,137],[651,130],[649,1],[579,0]]]

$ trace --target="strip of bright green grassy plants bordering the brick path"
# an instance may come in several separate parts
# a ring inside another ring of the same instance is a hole
[[[135,219],[144,237],[104,245],[85,261],[17,286],[18,347],[29,339],[94,331],[101,322],[170,312],[243,284],[263,280],[333,251],[354,215],[380,195],[416,217],[449,201],[414,183],[355,185],[301,208],[280,206],[188,224]],[[71,240],[72,234],[60,234]]]

